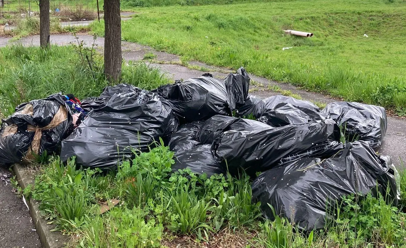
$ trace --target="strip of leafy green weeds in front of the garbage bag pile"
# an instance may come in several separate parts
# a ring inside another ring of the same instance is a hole
[[[182,235],[210,242],[224,230],[252,233],[246,247],[406,246],[406,214],[382,196],[343,197],[324,230],[302,233],[284,218],[261,217],[259,203],[251,202],[247,175],[173,173],[173,163],[173,152],[162,143],[150,152],[135,152],[133,160],[107,174],[78,169],[74,158],[63,165],[55,157],[39,167],[35,184],[24,193],[41,201],[41,214],[58,224],[55,231],[76,235],[70,245],[77,247],[160,247]],[[99,214],[100,204],[111,199],[119,203]]]

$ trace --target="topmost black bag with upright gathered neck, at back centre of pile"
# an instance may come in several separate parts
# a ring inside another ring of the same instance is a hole
[[[213,115],[232,115],[236,104],[242,105],[248,95],[250,78],[244,68],[231,73],[225,81],[204,74],[187,81],[176,81],[159,87],[157,92],[167,99],[180,123],[206,120]]]

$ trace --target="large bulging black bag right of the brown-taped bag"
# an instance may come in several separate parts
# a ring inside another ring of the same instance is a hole
[[[106,87],[87,118],[62,143],[61,159],[76,156],[83,167],[115,169],[130,148],[148,151],[154,141],[168,135],[171,107],[147,90],[119,84]]]

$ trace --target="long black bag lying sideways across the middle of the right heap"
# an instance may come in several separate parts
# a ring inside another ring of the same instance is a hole
[[[278,165],[290,156],[310,156],[328,152],[339,141],[340,130],[333,120],[257,130],[229,130],[213,143],[215,156],[230,171],[240,167],[249,175]]]

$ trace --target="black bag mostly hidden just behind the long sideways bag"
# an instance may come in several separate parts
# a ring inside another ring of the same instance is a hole
[[[207,119],[199,128],[196,140],[204,144],[212,144],[222,133],[228,130],[253,131],[260,128],[268,128],[269,125],[243,118],[231,116],[214,115]]]

